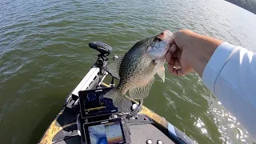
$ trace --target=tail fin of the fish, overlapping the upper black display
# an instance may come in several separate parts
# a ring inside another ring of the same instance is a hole
[[[122,95],[120,90],[114,87],[112,90],[104,94],[103,97],[112,99],[114,106],[122,110],[122,101],[123,101],[123,98],[125,98],[125,96]]]

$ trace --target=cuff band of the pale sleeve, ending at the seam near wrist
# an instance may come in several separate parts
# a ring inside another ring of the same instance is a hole
[[[223,66],[225,66],[230,56],[234,54],[237,49],[238,47],[230,45],[228,42],[222,42],[222,44],[214,51],[205,70],[203,70],[202,82],[212,93],[214,93],[214,84],[221,73]]]

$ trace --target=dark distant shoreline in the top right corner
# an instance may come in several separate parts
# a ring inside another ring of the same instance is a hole
[[[236,6],[242,7],[245,10],[248,10],[256,14],[256,1],[255,0],[225,0],[226,2],[233,3]]]

